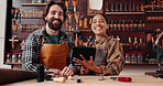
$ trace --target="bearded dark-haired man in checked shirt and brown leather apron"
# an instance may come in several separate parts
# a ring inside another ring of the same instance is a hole
[[[74,67],[65,66],[69,47],[74,45],[73,40],[61,31],[65,12],[64,3],[48,2],[43,12],[45,28],[32,32],[25,41],[22,69],[35,71],[36,64],[44,64],[51,71],[63,69],[57,69],[61,76],[74,75]]]

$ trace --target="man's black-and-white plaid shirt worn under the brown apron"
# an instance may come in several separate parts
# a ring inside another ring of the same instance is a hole
[[[44,36],[46,43],[52,44],[52,42],[48,41],[46,37],[45,29],[36,30],[28,36],[23,52],[22,52],[22,69],[23,71],[36,69],[36,64],[40,63],[40,49],[42,44],[42,36]],[[74,46],[73,37],[66,35],[64,32],[61,31],[58,43],[64,43],[64,42],[67,42],[69,47]]]

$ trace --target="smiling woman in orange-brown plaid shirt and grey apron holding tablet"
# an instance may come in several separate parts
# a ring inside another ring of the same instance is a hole
[[[90,56],[87,61],[83,55],[83,61],[74,57],[74,62],[83,65],[80,74],[86,75],[95,72],[96,74],[118,75],[123,66],[123,50],[119,40],[107,35],[107,19],[102,14],[93,18],[91,30],[95,34],[88,46],[96,47],[95,61]]]

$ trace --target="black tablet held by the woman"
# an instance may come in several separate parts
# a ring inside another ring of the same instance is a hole
[[[88,47],[88,46],[75,46],[73,47],[73,57],[83,60],[79,55],[83,55],[86,60],[90,60],[90,56],[95,58],[96,49],[95,47]]]

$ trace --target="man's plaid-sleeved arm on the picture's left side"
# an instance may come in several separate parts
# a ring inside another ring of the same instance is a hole
[[[30,34],[25,41],[24,50],[22,53],[22,69],[23,71],[36,71],[36,64],[39,62],[39,47],[36,39],[33,34]]]

